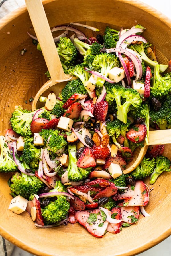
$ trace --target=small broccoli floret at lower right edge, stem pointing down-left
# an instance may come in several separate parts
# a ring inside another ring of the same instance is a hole
[[[170,165],[171,165],[171,161],[167,157],[162,155],[157,156],[156,168],[154,169],[153,173],[150,176],[150,184],[154,184],[154,182],[162,172],[164,171],[170,172],[171,171]]]

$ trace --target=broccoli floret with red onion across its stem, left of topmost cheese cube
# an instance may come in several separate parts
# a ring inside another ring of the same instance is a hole
[[[101,53],[95,56],[92,66],[95,70],[99,71],[104,77],[108,76],[109,71],[113,67],[119,67],[119,61],[116,55],[111,53]],[[105,80],[102,78],[97,78],[96,85],[97,87],[102,87],[105,83]]]

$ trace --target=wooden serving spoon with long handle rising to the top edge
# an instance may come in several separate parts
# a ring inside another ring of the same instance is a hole
[[[38,38],[51,79],[47,81],[38,91],[32,103],[32,110],[36,109],[39,97],[50,87],[64,81],[72,79],[71,75],[66,75],[63,71],[61,61],[56,50],[56,45],[50,30],[50,26],[44,11],[41,0],[25,0],[28,14],[32,21],[34,31]],[[58,85],[59,87],[61,84]],[[64,85],[62,85],[64,87]],[[58,87],[57,87],[58,89]],[[54,90],[53,90],[54,91]]]

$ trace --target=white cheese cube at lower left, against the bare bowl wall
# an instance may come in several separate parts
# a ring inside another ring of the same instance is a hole
[[[20,195],[17,195],[11,200],[8,210],[13,211],[16,214],[20,214],[25,211],[28,200]]]

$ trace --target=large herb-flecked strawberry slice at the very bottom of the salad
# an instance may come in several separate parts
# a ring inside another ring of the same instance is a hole
[[[77,211],[76,219],[83,225],[91,235],[95,237],[103,237],[107,229],[108,222],[104,221],[99,209]]]

